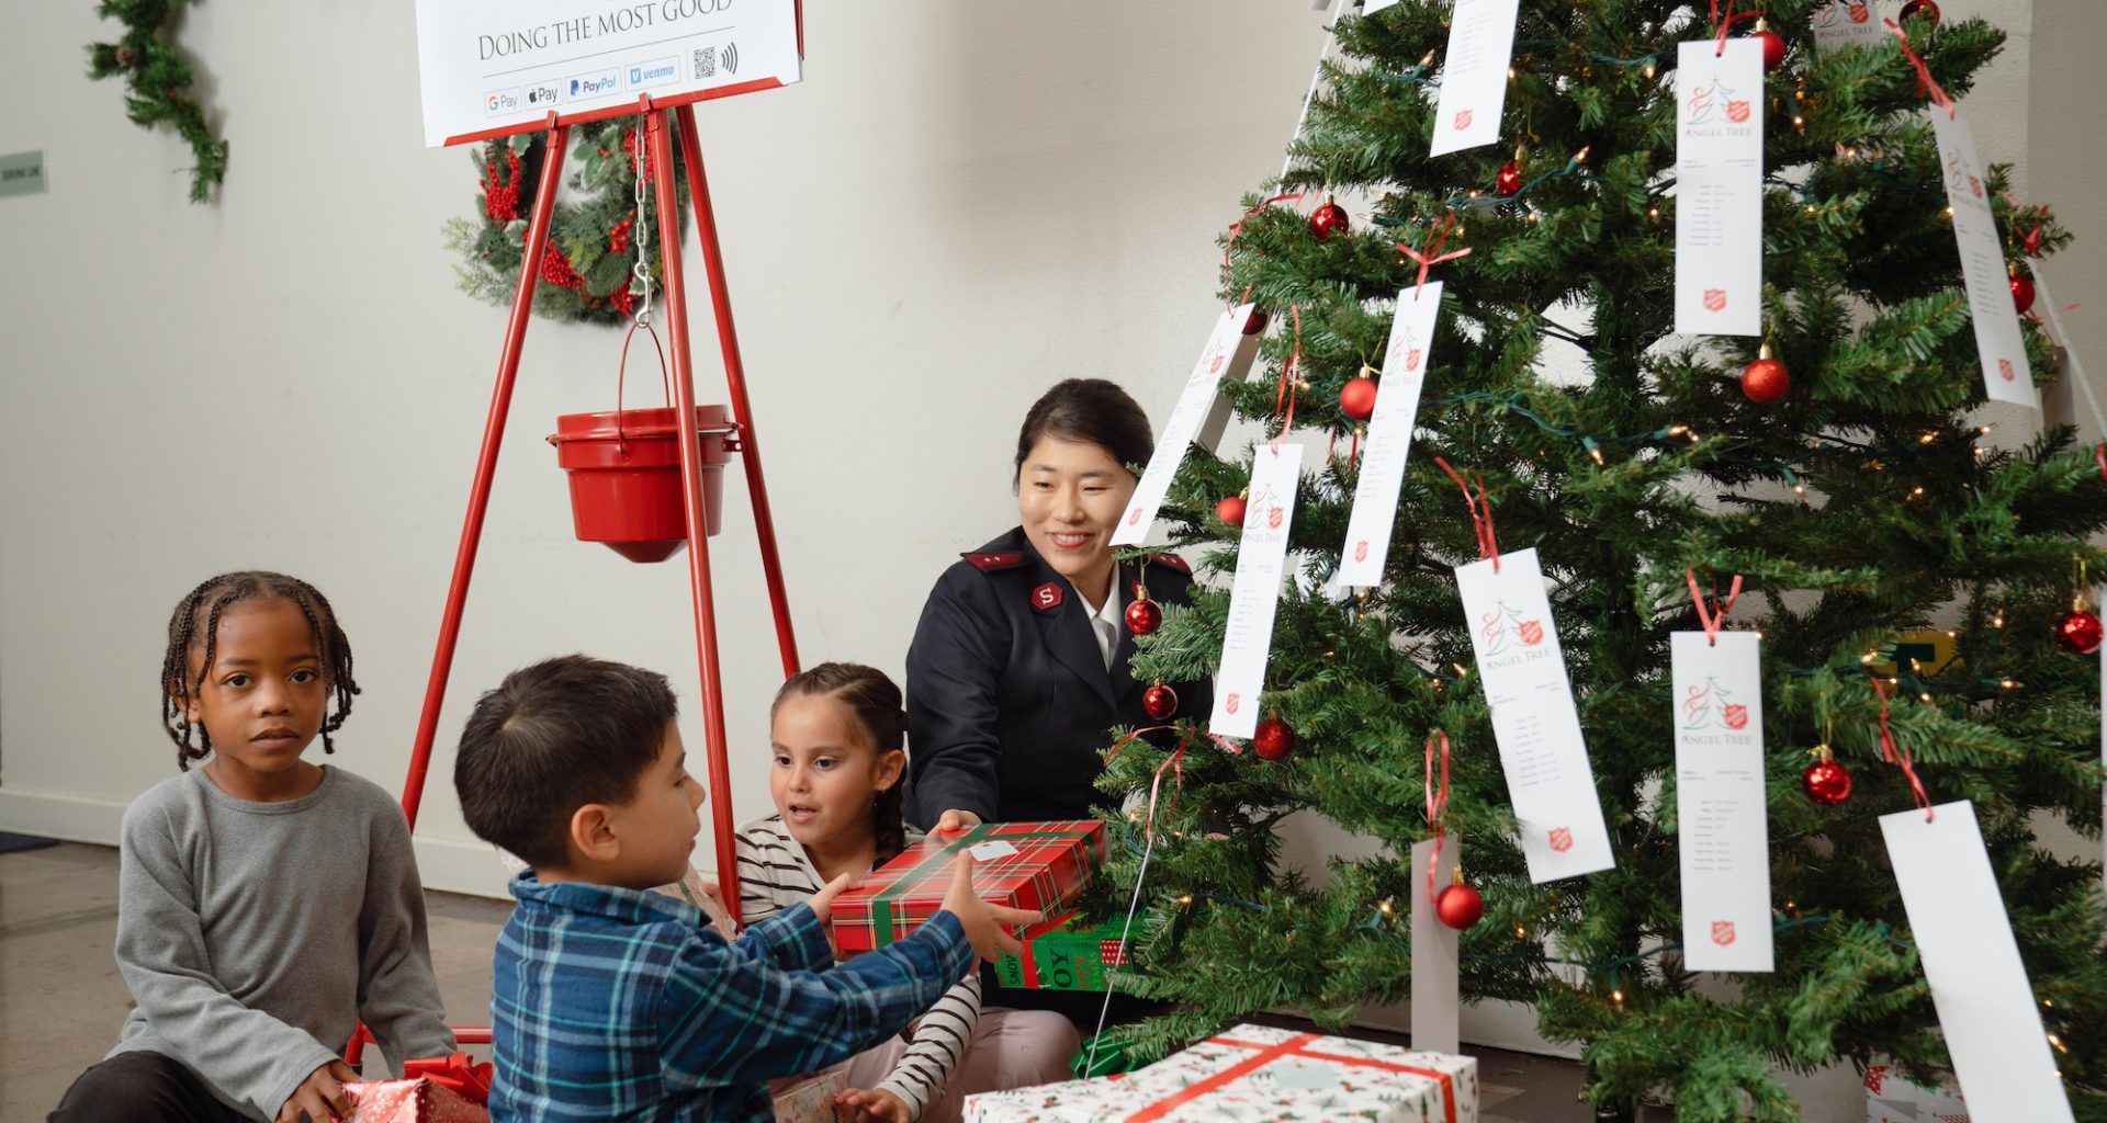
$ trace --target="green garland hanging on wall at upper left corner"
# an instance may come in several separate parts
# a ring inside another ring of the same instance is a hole
[[[88,44],[88,78],[124,76],[124,114],[141,129],[173,124],[190,141],[190,202],[209,202],[228,177],[228,141],[213,137],[204,110],[190,97],[190,63],[175,53],[173,23],[196,0],[101,0],[95,15],[124,23],[118,42]]]

